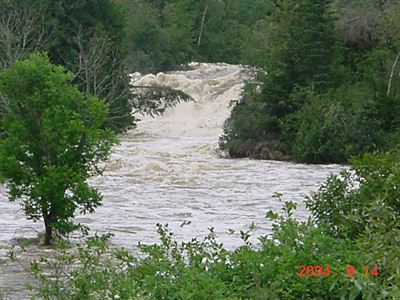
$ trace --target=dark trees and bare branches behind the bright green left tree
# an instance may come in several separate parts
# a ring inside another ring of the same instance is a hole
[[[109,106],[107,127],[133,125],[129,80],[123,69],[122,9],[111,0],[0,1],[0,71],[32,52],[74,74],[72,84]]]

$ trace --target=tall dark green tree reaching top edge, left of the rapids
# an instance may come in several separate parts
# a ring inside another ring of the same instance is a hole
[[[51,62],[76,74],[73,83],[109,107],[106,127],[123,132],[134,125],[129,78],[123,69],[125,17],[113,0],[53,1],[46,16],[55,26]]]

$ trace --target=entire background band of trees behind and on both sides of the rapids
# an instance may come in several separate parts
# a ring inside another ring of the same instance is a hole
[[[0,4],[0,69],[46,52],[82,92],[105,100],[107,128],[116,132],[135,125],[132,110],[160,113],[163,98],[185,98],[132,93],[128,73],[224,61],[264,70],[225,124],[220,147],[232,157],[345,162],[398,143],[398,1]]]

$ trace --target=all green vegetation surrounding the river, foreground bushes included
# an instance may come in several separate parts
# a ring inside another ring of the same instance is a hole
[[[37,299],[400,299],[397,0],[0,7],[0,180],[28,218],[44,220],[46,245],[78,229],[77,210],[101,204],[87,179],[101,174],[116,133],[138,122],[132,111],[154,115],[190,100],[163,87],[135,89],[132,72],[191,61],[254,67],[220,148],[234,158],[351,168],[304,199],[306,221],[277,193],[283,211],[266,215],[272,234],[254,245],[250,227],[233,251],[212,228],[179,243],[160,224],[160,243],[139,245],[138,256],[110,247],[108,235],[78,246],[60,239],[53,257],[31,264]]]

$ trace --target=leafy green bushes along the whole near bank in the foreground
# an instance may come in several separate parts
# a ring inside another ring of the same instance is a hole
[[[282,213],[266,214],[271,234],[257,245],[254,224],[236,233],[241,246],[234,250],[212,227],[204,238],[180,242],[159,224],[159,242],[140,245],[140,256],[111,249],[108,237],[89,238],[73,253],[58,249],[56,261],[35,266],[35,292],[65,299],[397,300],[398,161],[398,153],[353,160],[351,172],[331,176],[306,200],[312,218],[305,221],[295,216],[297,203],[283,201]],[[50,274],[49,265],[56,266]]]

